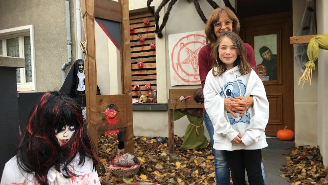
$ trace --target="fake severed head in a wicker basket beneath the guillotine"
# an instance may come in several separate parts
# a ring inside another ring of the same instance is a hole
[[[122,156],[116,156],[111,164],[106,166],[107,173],[111,173],[116,176],[131,176],[136,174],[140,165],[136,157],[130,153],[126,153]]]

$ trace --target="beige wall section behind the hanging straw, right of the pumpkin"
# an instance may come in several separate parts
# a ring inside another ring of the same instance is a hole
[[[305,5],[306,0],[293,0],[294,36],[298,33]],[[296,44],[294,45],[294,56],[295,53]],[[308,82],[306,82],[304,86],[303,83],[298,85],[299,78],[302,74],[294,58],[295,145],[317,146],[318,70],[313,71],[311,85]]]

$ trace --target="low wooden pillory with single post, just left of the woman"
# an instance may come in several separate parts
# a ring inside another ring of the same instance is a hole
[[[203,108],[203,103],[199,104],[194,99],[197,89],[169,89],[168,90],[168,153],[174,153],[174,109]],[[189,99],[181,102],[180,96],[190,96]]]

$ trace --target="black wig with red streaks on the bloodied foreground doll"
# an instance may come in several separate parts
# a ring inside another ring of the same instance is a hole
[[[98,158],[93,154],[94,145],[84,122],[81,107],[69,96],[57,91],[45,93],[32,109],[22,133],[17,149],[19,168],[34,173],[41,185],[47,185],[50,168],[65,172],[66,178],[77,176],[68,169],[77,155],[79,165],[89,157],[95,168]],[[60,146],[55,130],[61,130],[65,125],[74,126],[75,132],[65,145]]]

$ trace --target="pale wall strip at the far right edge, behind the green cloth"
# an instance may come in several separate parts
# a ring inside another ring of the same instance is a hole
[[[328,34],[328,1],[317,0],[318,34]],[[325,167],[328,166],[328,50],[320,49],[318,70],[318,145]],[[314,116],[313,116],[314,117]]]

